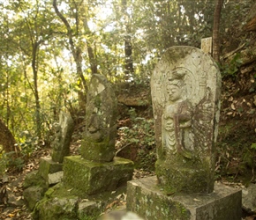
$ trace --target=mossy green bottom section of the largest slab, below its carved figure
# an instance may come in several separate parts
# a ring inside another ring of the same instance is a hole
[[[187,159],[180,156],[158,159],[155,172],[166,194],[209,194],[215,186],[215,164],[210,158]]]

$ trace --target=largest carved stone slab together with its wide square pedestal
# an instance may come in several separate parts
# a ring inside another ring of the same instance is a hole
[[[146,220],[241,219],[241,190],[214,180],[220,93],[220,71],[200,49],[162,55],[151,77],[156,176],[128,182],[127,210]]]

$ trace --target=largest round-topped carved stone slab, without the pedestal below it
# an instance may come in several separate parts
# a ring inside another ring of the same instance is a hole
[[[214,189],[221,75],[198,48],[169,48],[151,77],[159,184],[167,194]]]

